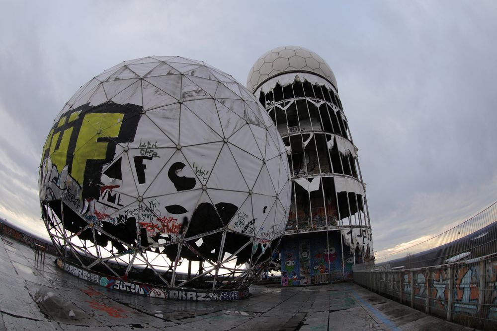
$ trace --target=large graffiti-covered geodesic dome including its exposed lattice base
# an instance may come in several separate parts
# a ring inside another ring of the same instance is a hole
[[[288,218],[287,150],[230,75],[180,57],[84,84],[43,147],[42,215],[64,261],[165,287],[240,288]]]

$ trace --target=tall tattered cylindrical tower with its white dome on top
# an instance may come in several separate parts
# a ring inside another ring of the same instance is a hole
[[[255,62],[247,87],[266,108],[288,151],[292,203],[283,242],[305,239],[292,243],[300,245],[298,252],[280,250],[277,264],[283,272],[296,273],[300,284],[310,283],[311,276],[312,282],[345,277],[356,261],[372,259],[373,248],[357,148],[333,71],[310,50],[278,47]],[[305,234],[324,231],[325,244],[312,248]],[[314,256],[321,260],[311,261]]]

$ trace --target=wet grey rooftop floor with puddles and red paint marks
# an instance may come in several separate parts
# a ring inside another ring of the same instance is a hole
[[[2,330],[474,330],[352,284],[250,287],[245,300],[188,302],[83,281],[0,236]]]

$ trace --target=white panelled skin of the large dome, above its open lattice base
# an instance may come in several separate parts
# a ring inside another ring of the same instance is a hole
[[[62,200],[81,218],[66,230],[91,223],[112,234],[134,219],[136,233],[112,242],[119,251],[213,231],[264,251],[283,234],[291,195],[286,149],[264,108],[232,76],[180,57],[125,61],[84,84],[55,119],[39,183],[44,212]]]

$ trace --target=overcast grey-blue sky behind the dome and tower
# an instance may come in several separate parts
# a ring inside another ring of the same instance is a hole
[[[257,58],[285,45],[313,50],[334,71],[375,251],[497,200],[496,1],[75,2],[0,0],[0,216],[9,222],[46,233],[41,148],[93,76],[179,55],[245,85]]]

